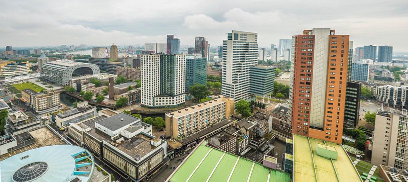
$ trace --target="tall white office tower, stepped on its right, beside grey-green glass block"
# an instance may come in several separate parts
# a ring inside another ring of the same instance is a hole
[[[250,67],[258,64],[258,34],[233,30],[223,40],[222,94],[248,99]]]

